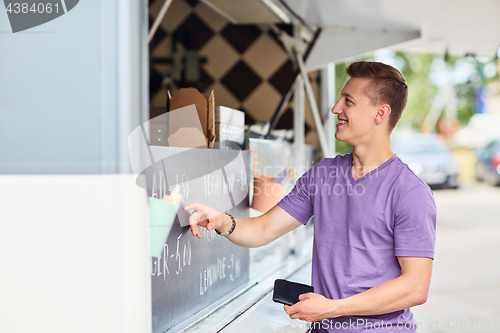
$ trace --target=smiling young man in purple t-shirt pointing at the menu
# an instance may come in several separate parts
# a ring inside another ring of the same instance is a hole
[[[349,66],[351,77],[332,112],[335,137],[353,152],[325,158],[300,177],[278,205],[257,218],[237,219],[192,204],[197,224],[258,247],[314,216],[315,293],[284,306],[313,332],[416,332],[409,310],[427,300],[434,256],[436,206],[429,187],[391,150],[390,133],[408,88],[395,68]],[[201,222],[200,222],[201,221]]]

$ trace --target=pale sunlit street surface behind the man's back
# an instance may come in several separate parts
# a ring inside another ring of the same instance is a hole
[[[418,332],[500,332],[500,187],[434,190],[437,240],[431,288],[413,309]]]

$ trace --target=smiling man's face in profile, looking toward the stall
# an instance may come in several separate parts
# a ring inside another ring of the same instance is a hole
[[[356,145],[373,139],[377,106],[365,94],[370,79],[351,78],[340,92],[340,98],[332,108],[338,124],[335,138]]]

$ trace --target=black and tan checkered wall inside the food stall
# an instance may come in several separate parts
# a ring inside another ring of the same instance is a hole
[[[163,0],[150,1],[150,22],[162,4]],[[287,25],[280,28],[290,34],[293,30]],[[294,80],[293,62],[268,26],[231,24],[196,0],[174,0],[150,45],[152,59],[172,57],[176,50],[181,54],[196,51],[206,62],[197,82],[174,80],[174,86],[192,86],[205,94],[214,90],[216,104],[244,111],[247,124],[270,121]],[[171,72],[172,65],[151,65],[152,106],[165,105],[162,73],[166,71]],[[318,91],[317,80],[313,86]],[[292,103],[278,128],[293,127]],[[314,127],[307,112],[305,126],[307,131]]]

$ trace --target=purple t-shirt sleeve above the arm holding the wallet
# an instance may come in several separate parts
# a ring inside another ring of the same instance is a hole
[[[434,259],[436,204],[425,184],[412,188],[399,201],[394,216],[395,255]]]

